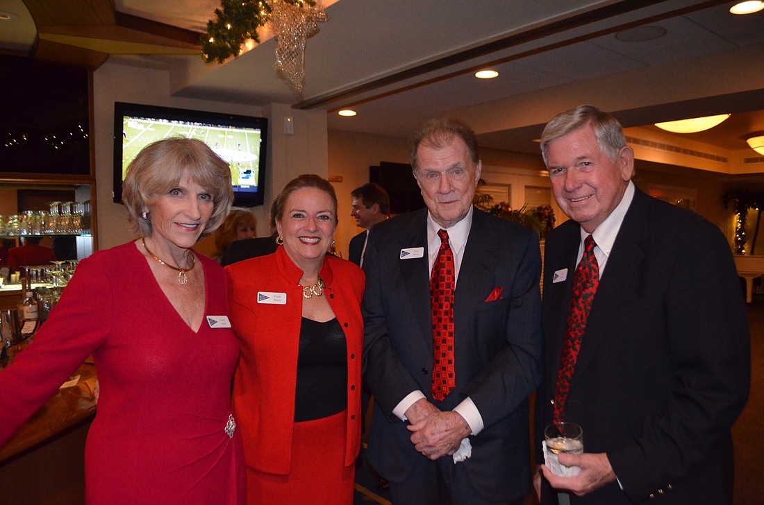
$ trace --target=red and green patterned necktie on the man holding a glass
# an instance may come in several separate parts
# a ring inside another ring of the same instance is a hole
[[[555,423],[565,421],[565,402],[568,400],[570,380],[573,376],[578,351],[581,350],[581,337],[586,330],[586,320],[591,310],[594,293],[600,284],[600,266],[594,256],[594,238],[591,235],[584,240],[584,256],[573,277],[571,303],[568,307],[568,324],[565,330],[565,344],[562,347],[562,361],[557,372],[555,386]]]

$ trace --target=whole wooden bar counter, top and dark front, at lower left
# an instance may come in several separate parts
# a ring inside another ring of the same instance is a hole
[[[8,360],[0,361],[0,369],[6,365]],[[95,415],[95,365],[83,363],[76,375],[76,384],[60,388],[0,449],[0,502],[83,503],[85,439]]]

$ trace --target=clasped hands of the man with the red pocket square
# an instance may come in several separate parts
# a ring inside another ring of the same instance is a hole
[[[412,433],[411,443],[432,461],[453,455],[471,432],[464,417],[450,410],[443,412],[426,398],[416,400],[406,410],[406,419],[410,423],[406,427]]]

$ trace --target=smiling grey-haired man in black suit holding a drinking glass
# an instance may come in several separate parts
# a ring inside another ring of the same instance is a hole
[[[545,425],[570,422],[585,451],[558,456],[581,468],[572,477],[542,465],[542,503],[731,504],[730,426],[750,356],[727,240],[635,187],[633,151],[610,114],[558,115],[541,149],[571,220],[546,239],[536,444]]]

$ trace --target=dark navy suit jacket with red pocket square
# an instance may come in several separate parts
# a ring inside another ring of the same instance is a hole
[[[464,463],[484,497],[509,500],[529,491],[528,395],[540,374],[539,272],[535,233],[475,210],[455,291],[456,387],[432,398],[432,316],[427,210],[374,225],[364,259],[364,378],[376,399],[367,458],[402,481],[416,458],[408,423],[392,410],[422,391],[442,410],[470,397],[485,428],[471,436]],[[401,258],[402,249],[423,255]],[[495,288],[500,298],[487,301]]]

